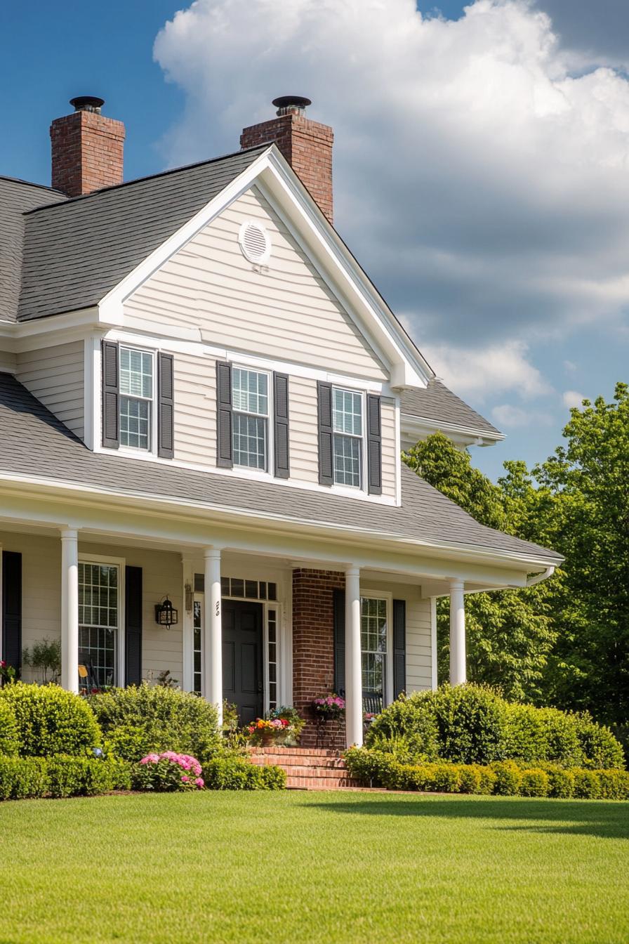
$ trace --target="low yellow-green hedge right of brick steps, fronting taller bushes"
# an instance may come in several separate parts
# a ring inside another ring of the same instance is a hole
[[[390,753],[367,748],[350,748],[345,753],[345,761],[351,775],[363,784],[384,786],[389,790],[629,800],[629,772],[626,770],[565,770],[551,764],[526,767],[508,760],[494,761],[490,765],[403,764]]]

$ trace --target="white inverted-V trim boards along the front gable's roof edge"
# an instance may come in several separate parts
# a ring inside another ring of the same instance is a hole
[[[274,145],[101,299],[100,324],[123,327],[125,299],[254,183],[291,224],[292,232],[300,234],[308,256],[325,273],[374,351],[389,364],[391,386],[424,387],[434,376],[432,369]]]

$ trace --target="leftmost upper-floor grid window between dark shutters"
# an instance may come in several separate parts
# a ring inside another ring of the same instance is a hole
[[[153,354],[120,349],[120,445],[151,448],[153,422]]]

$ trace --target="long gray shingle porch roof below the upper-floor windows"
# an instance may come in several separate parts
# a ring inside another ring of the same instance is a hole
[[[93,453],[9,374],[0,374],[0,430],[0,472],[8,474],[199,501],[235,512],[289,516],[306,526],[334,522],[406,540],[507,551],[549,564],[561,561],[554,551],[478,524],[404,465],[403,506],[393,508],[272,482]]]

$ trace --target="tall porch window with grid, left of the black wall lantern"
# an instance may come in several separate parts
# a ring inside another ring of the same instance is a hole
[[[118,565],[78,565],[79,663],[97,688],[117,683],[119,584]]]

